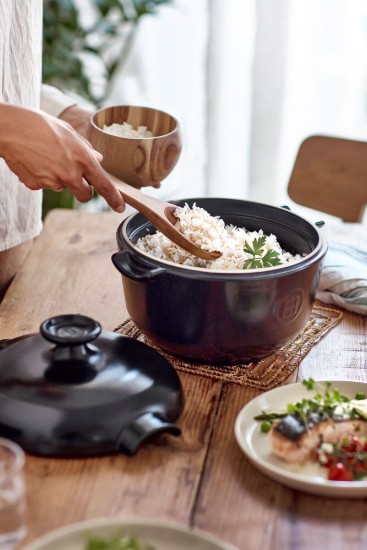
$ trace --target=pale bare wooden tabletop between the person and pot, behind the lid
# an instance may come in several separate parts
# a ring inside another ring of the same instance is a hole
[[[62,313],[94,317],[104,330],[126,318],[121,277],[111,261],[124,215],[68,214],[53,210],[46,218],[1,304],[0,338],[38,332],[42,321]]]

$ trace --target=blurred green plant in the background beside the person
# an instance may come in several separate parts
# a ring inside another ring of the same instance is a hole
[[[43,82],[98,108],[127,58],[141,18],[172,1],[44,0]],[[82,17],[81,5],[89,8],[87,18]],[[43,217],[51,208],[73,208],[74,204],[68,190],[45,190]]]

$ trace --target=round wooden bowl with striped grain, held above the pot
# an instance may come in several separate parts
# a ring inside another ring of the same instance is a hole
[[[103,128],[127,122],[134,129],[145,126],[153,137],[120,137]],[[133,187],[162,181],[176,166],[181,154],[178,121],[168,113],[138,106],[107,107],[91,118],[89,141],[103,155],[102,166]]]

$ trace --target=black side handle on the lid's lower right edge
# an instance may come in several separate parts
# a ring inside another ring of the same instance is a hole
[[[120,432],[117,450],[132,456],[145,440],[162,432],[181,435],[180,428],[173,422],[168,422],[157,413],[146,412]]]

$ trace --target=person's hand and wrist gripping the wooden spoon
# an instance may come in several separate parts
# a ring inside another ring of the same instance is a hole
[[[100,165],[102,156],[69,123],[0,104],[0,128],[0,156],[26,187],[69,188],[80,202],[92,198],[94,187],[111,208],[124,211],[121,193]]]

